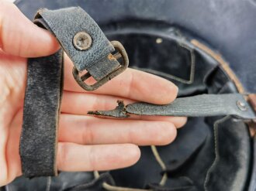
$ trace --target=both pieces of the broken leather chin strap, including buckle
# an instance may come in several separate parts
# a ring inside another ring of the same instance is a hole
[[[123,72],[129,62],[123,46],[118,42],[110,43],[94,20],[79,7],[55,11],[40,9],[35,23],[52,32],[62,49],[51,56],[28,60],[19,152],[23,175],[29,178],[57,176],[57,128],[63,90],[64,51],[74,63],[75,80],[85,90],[95,90],[105,84]],[[117,53],[112,54],[115,50]],[[88,73],[80,77],[83,70]],[[96,84],[85,84],[88,77],[93,77]],[[242,94],[183,97],[168,105],[137,103],[125,106],[119,101],[115,110],[91,111],[89,114],[117,118],[127,118],[129,114],[255,118]]]

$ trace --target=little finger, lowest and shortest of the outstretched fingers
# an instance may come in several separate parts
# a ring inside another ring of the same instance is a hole
[[[140,158],[136,145],[77,145],[59,143],[57,168],[62,171],[119,169],[133,165]]]

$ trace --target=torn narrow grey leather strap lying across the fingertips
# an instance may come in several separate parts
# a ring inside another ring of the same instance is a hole
[[[88,114],[127,118],[129,114],[206,117],[233,115],[237,118],[254,119],[255,113],[242,94],[202,94],[177,98],[171,104],[155,105],[135,103],[119,105],[112,111],[89,111]]]

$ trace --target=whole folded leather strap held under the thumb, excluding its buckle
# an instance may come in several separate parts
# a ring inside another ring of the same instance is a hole
[[[34,22],[52,32],[62,49],[51,56],[28,60],[19,153],[22,173],[29,178],[57,176],[57,128],[63,89],[64,51],[78,72],[88,70],[95,80],[104,77],[109,80],[116,75],[112,71],[119,67],[116,57],[110,54],[115,50],[116,43],[110,43],[95,21],[81,8],[40,9]],[[117,47],[121,47],[119,52],[125,52],[123,46],[118,44]],[[112,76],[109,77],[109,73]]]

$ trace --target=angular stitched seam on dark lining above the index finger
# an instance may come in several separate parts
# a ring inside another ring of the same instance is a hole
[[[189,46],[186,46],[185,44],[179,43],[179,46],[181,46],[184,49],[189,50],[189,53],[190,53],[190,66],[191,67],[190,67],[189,80],[185,80],[180,77],[175,77],[174,75],[171,75],[169,73],[164,73],[164,72],[157,71],[157,70],[151,70],[151,69],[140,68],[140,67],[132,67],[132,68],[137,69],[137,70],[142,70],[147,73],[153,73],[153,74],[161,76],[161,77],[167,77],[172,80],[177,80],[178,82],[181,82],[183,84],[193,84],[193,82],[195,80],[195,53],[194,53],[194,50],[191,49]]]

